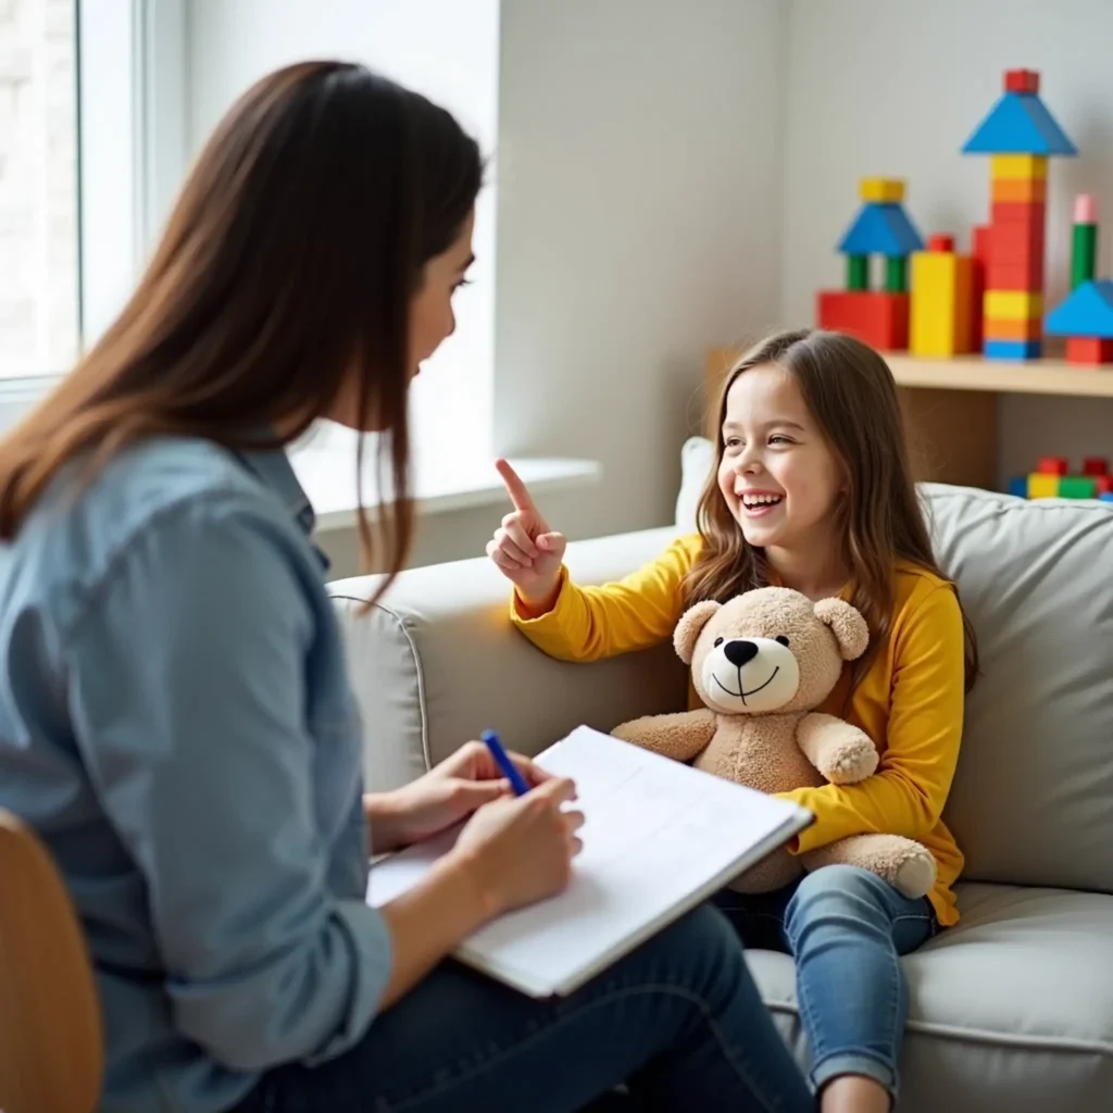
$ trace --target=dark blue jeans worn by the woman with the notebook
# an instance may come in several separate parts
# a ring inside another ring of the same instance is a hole
[[[351,1051],[268,1072],[237,1113],[564,1113],[623,1082],[620,1107],[815,1109],[709,905],[565,998],[534,1001],[443,963]]]

